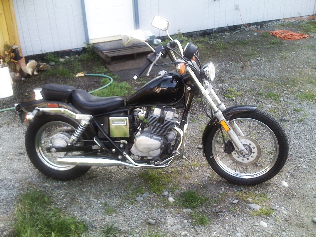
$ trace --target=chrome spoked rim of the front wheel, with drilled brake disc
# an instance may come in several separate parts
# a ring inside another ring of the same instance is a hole
[[[224,153],[223,137],[218,129],[212,140],[213,156],[218,166],[229,175],[242,179],[257,178],[269,172],[279,155],[279,145],[273,131],[264,123],[250,118],[233,119],[230,125],[239,127],[240,130],[235,132],[249,153],[245,157],[236,150],[231,154]],[[225,142],[229,140],[226,133],[224,139]]]

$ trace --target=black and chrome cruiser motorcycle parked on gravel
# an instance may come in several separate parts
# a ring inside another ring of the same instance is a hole
[[[33,165],[57,180],[75,179],[91,166],[169,167],[183,156],[192,99],[199,95],[210,118],[202,145],[213,170],[241,185],[274,177],[289,149],[281,125],[257,106],[227,108],[212,87],[214,64],[202,66],[197,46],[188,42],[183,49],[173,40],[169,21],[155,16],[152,26],[165,31],[170,41],[153,48],[141,30],[122,35],[125,45],[142,42],[153,51],[134,79],[149,67],[148,75],[160,58],[170,58],[163,65],[173,64],[175,71],[161,71],[127,100],[45,84],[34,89],[33,99],[16,104],[21,121],[25,116],[29,124],[25,146]]]

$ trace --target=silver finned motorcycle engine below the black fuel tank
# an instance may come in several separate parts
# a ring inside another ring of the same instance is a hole
[[[178,119],[175,108],[157,106],[148,115],[149,128],[138,132],[131,148],[134,155],[159,160],[163,151],[174,141],[173,130]]]

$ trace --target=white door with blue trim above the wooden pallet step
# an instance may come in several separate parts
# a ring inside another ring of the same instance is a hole
[[[133,0],[84,0],[89,43],[121,39],[134,30]]]

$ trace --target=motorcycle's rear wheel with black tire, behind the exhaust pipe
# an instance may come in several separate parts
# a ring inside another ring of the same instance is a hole
[[[48,152],[50,146],[64,147],[78,127],[78,123],[64,116],[41,116],[30,123],[25,134],[27,155],[43,174],[56,180],[71,180],[86,173],[90,167],[60,164],[59,157],[79,155],[81,152]],[[75,145],[83,145],[83,134]]]

